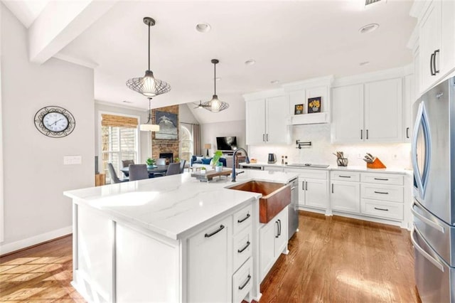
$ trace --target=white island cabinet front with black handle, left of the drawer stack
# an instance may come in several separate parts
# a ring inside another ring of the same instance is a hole
[[[188,239],[188,302],[231,301],[231,222],[229,216]]]

